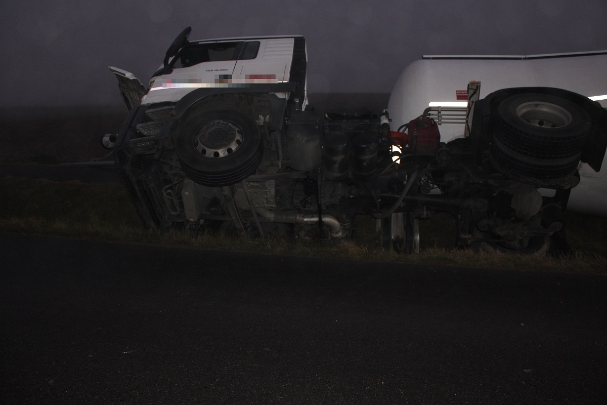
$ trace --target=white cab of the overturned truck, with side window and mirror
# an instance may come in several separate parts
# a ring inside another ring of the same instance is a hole
[[[305,77],[294,69],[305,69],[305,43],[302,36],[260,36],[188,41],[189,27],[175,39],[164,63],[149,81],[148,89],[132,73],[109,67],[124,83],[129,95],[127,108],[159,103],[177,103],[197,89],[246,89],[258,84],[289,83],[291,77],[304,84],[300,107],[305,108]],[[303,50],[303,52],[302,52]],[[294,53],[298,53],[294,55]],[[294,58],[295,56],[295,58]],[[277,89],[279,90],[279,89]],[[212,92],[212,90],[209,90]],[[280,98],[288,92],[277,91]]]

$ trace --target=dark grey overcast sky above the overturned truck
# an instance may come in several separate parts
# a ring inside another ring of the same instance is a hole
[[[607,49],[606,0],[4,0],[0,106],[118,105],[107,66],[147,86],[174,37],[302,34],[310,92],[390,92],[428,54]]]

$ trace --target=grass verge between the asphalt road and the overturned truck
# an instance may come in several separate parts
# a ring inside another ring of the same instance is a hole
[[[420,222],[421,253],[407,255],[378,248],[375,221],[371,219],[361,218],[359,237],[335,245],[273,237],[194,236],[180,231],[145,230],[121,185],[4,177],[0,189],[0,231],[5,232],[403,265],[607,274],[607,218],[603,217],[568,214],[568,236],[574,253],[555,258],[453,250],[455,223],[450,216],[437,215]]]

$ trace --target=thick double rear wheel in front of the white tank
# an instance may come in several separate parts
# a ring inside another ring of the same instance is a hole
[[[546,94],[510,96],[493,119],[490,157],[503,174],[554,185],[575,173],[591,128],[582,107]]]

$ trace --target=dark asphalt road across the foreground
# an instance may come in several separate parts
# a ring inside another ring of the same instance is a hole
[[[2,404],[606,404],[605,276],[0,233]]]

